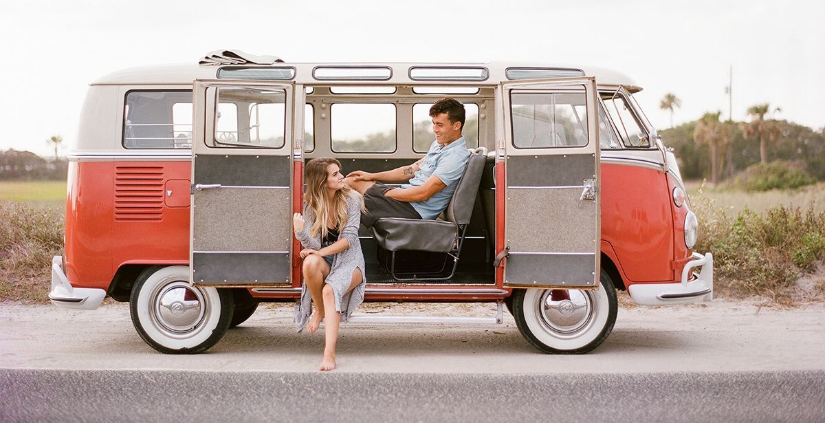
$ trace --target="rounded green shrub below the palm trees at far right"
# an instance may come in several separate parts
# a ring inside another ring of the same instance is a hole
[[[815,182],[813,177],[805,171],[804,166],[777,161],[768,164],[753,164],[737,176],[733,185],[748,192],[754,192],[793,189]]]

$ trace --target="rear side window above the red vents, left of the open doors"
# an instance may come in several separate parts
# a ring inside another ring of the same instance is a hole
[[[189,149],[192,144],[192,92],[126,93],[123,146],[127,149]]]

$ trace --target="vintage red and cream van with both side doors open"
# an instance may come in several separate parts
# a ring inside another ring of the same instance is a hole
[[[467,109],[467,170],[438,220],[361,228],[365,301],[493,302],[497,316],[435,320],[501,323],[507,307],[537,349],[587,352],[614,326],[617,289],[648,306],[713,297],[713,258],[692,250],[698,222],[639,90],[587,67],[243,54],[109,74],[68,155],[50,299],[130,302],[154,349],[210,348],[258,303],[298,299],[304,162],[411,164],[450,96]]]

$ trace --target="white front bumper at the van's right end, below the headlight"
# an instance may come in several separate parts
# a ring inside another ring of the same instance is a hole
[[[701,267],[699,273],[694,269]],[[643,306],[669,306],[714,299],[714,256],[693,253],[681,271],[681,282],[635,283],[627,288],[630,298]]]

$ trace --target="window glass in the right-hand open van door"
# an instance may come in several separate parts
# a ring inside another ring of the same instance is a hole
[[[511,103],[516,148],[587,145],[584,93],[512,93]]]

